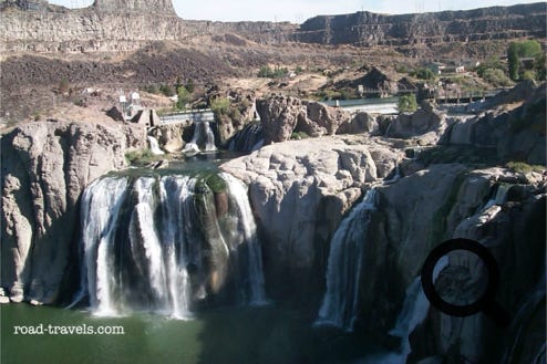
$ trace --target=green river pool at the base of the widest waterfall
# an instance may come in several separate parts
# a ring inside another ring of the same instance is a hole
[[[189,321],[159,314],[96,318],[27,304],[2,305],[0,312],[1,364],[327,364],[352,363],[370,352],[362,337],[311,329],[311,319],[275,306],[221,309]],[[63,326],[52,331],[120,326],[124,334],[16,334],[49,325]]]

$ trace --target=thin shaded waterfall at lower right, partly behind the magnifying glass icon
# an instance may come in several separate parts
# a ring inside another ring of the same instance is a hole
[[[433,269],[433,281],[436,281],[441,271],[448,266],[448,257],[442,257]],[[401,345],[398,351],[380,353],[359,361],[359,364],[404,364],[406,357],[412,352],[409,341],[410,335],[427,316],[430,301],[422,289],[422,281],[416,277],[409,285],[405,292],[403,308],[399,313],[395,326],[390,330],[389,334],[401,339]]]

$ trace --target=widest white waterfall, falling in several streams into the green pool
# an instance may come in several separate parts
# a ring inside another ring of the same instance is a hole
[[[221,183],[215,190],[210,177],[178,175],[106,177],[87,187],[73,304],[89,297],[100,315],[154,311],[185,319],[197,302],[220,293],[237,303],[264,303],[246,187],[227,174],[216,177]]]

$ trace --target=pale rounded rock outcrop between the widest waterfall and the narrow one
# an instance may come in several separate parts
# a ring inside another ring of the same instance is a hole
[[[221,166],[249,186],[274,295],[302,288],[321,294],[328,243],[342,215],[401,157],[364,136],[334,136],[274,144]]]

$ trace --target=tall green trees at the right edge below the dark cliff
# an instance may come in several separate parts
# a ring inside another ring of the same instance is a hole
[[[509,77],[514,81],[545,80],[546,56],[538,41],[512,42],[507,49]]]

